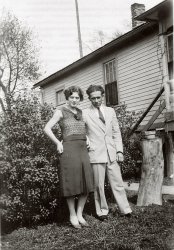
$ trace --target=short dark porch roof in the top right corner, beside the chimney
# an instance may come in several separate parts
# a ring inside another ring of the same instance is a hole
[[[150,10],[147,10],[141,15],[135,17],[135,19],[139,21],[159,21],[162,18],[169,16],[169,13],[172,13],[172,11],[173,0],[165,0]]]

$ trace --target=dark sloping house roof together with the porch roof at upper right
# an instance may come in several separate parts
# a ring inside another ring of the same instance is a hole
[[[172,0],[165,0],[161,2],[160,4],[156,5],[155,7],[151,8],[150,10],[137,16],[136,19],[140,21],[152,21],[152,20],[158,21],[159,16],[160,16],[159,14],[162,13],[162,10],[163,10],[163,13],[166,13],[166,11],[169,11],[169,8],[171,8],[171,5],[172,5]],[[112,52],[115,49],[123,47],[126,44],[128,44],[128,42],[130,44],[130,42],[135,41],[135,39],[140,39],[144,37],[146,34],[148,34],[149,32],[152,32],[154,29],[157,29],[157,28],[158,28],[157,22],[150,22],[150,23],[144,23],[142,25],[139,25],[133,30],[125,33],[124,35],[118,37],[117,39],[112,40],[111,42],[105,44],[104,46],[93,51],[92,53],[80,58],[79,60],[73,62],[72,64],[66,66],[65,68],[37,82],[36,84],[34,84],[33,88],[42,87],[45,84],[52,83],[53,81],[58,80],[65,75],[67,76],[77,71],[79,68],[82,68],[83,66],[87,65],[91,61],[95,61],[101,58],[106,53]]]

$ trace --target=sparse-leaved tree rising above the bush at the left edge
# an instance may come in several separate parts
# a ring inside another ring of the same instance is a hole
[[[38,49],[32,32],[10,13],[0,23],[0,105],[10,110],[10,100],[27,81],[39,77]]]

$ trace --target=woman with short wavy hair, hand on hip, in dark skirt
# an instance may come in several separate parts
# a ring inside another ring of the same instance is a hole
[[[87,152],[87,138],[82,111],[77,108],[83,101],[83,92],[79,87],[72,86],[64,91],[66,106],[57,110],[45,126],[45,133],[57,145],[60,154],[60,187],[61,194],[66,198],[70,222],[79,229],[89,226],[83,218],[83,209],[87,195],[93,192],[93,173]],[[58,140],[52,127],[59,122],[63,141]],[[77,210],[75,197],[78,198]]]

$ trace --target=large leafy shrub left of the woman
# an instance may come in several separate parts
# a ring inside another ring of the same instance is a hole
[[[59,197],[58,155],[43,127],[53,108],[35,96],[12,100],[0,122],[0,206],[9,222],[33,223],[53,216]],[[54,128],[59,137],[59,127]]]

